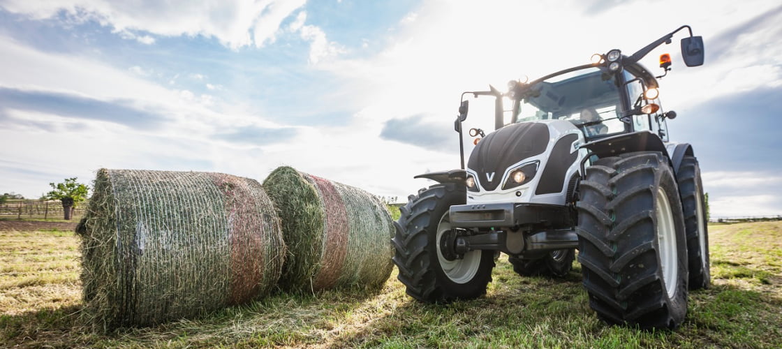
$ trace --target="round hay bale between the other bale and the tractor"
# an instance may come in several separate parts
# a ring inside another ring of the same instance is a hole
[[[282,219],[289,250],[280,286],[378,288],[389,278],[393,221],[375,196],[292,167],[272,171],[264,188]]]

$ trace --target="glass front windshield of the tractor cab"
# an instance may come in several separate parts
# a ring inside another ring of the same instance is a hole
[[[515,122],[566,120],[587,137],[625,131],[619,88],[597,67],[560,74],[525,88],[514,103]]]

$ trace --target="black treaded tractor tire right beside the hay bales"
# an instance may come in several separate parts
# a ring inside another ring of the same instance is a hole
[[[472,299],[486,293],[494,267],[492,251],[475,250],[449,261],[440,250],[440,239],[450,231],[448,211],[464,204],[465,189],[446,183],[422,189],[400,207],[392,239],[400,282],[407,294],[428,303]]]

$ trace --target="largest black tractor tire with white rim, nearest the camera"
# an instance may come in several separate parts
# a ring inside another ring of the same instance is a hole
[[[687,244],[667,158],[597,160],[580,192],[576,232],[590,307],[611,324],[678,327],[687,313]]]

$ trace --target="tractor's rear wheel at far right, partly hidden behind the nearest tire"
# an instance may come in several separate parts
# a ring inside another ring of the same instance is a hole
[[[679,194],[682,198],[687,257],[690,261],[690,290],[705,289],[711,283],[701,167],[695,157],[684,157],[679,165]]]

